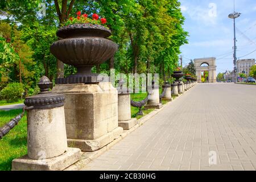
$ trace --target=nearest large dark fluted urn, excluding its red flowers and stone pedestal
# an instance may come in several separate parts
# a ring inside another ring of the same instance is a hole
[[[93,83],[109,81],[92,73],[94,65],[102,64],[114,56],[117,44],[106,39],[111,31],[98,24],[81,23],[61,27],[57,31],[60,40],[54,42],[51,53],[63,63],[77,68],[75,75],[57,78],[56,84]]]

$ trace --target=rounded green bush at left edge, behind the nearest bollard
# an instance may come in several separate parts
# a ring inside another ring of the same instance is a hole
[[[23,93],[24,89],[22,84],[13,82],[1,90],[0,96],[4,100],[18,101]]]

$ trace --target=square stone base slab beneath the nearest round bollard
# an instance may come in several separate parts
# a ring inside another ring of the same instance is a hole
[[[61,171],[81,158],[79,148],[68,148],[68,150],[55,158],[35,160],[24,155],[13,160],[13,171]]]

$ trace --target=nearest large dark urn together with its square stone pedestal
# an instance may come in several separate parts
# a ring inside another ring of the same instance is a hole
[[[106,39],[110,30],[100,25],[73,24],[57,31],[62,38],[51,53],[77,68],[75,75],[57,78],[52,92],[65,94],[65,122],[68,145],[82,151],[96,151],[122,134],[118,127],[118,92],[108,76],[92,73],[93,65],[104,63],[117,51]]]

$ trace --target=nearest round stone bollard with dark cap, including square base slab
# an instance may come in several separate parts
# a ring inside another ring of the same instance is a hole
[[[41,92],[27,97],[27,155],[13,160],[13,170],[63,170],[80,159],[79,148],[68,148],[64,95],[48,92],[44,76]]]

